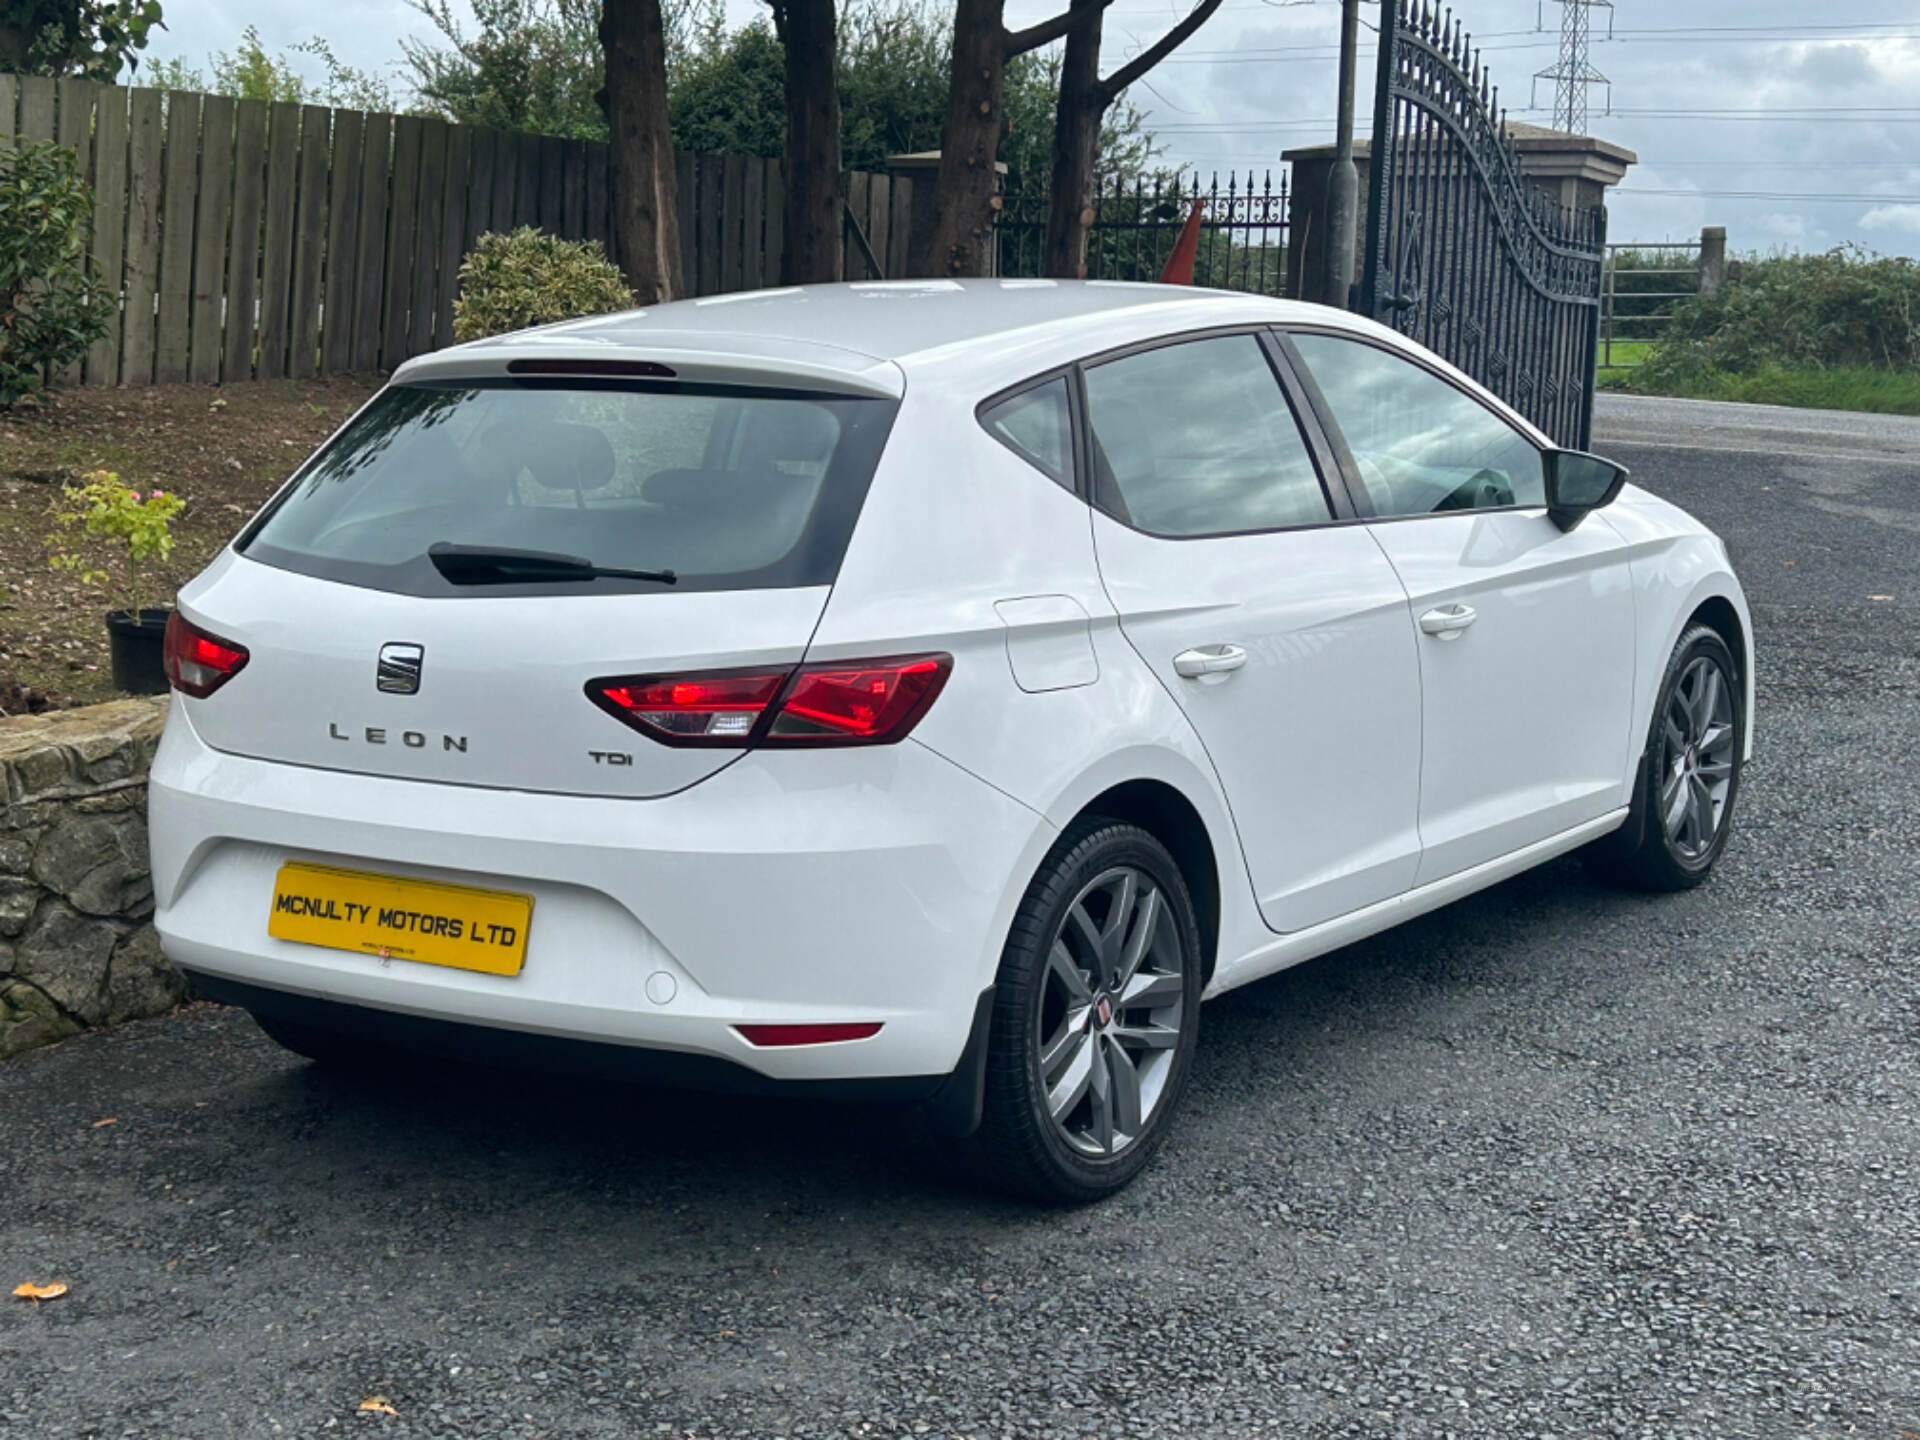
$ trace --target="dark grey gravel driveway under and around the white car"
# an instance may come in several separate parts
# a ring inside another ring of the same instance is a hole
[[[0,1302],[0,1434],[1914,1440],[1920,420],[1607,399],[1597,447],[1753,595],[1705,889],[1563,860],[1219,1000],[1069,1213],[885,1112],[77,1039],[0,1066],[0,1290],[73,1284]]]

